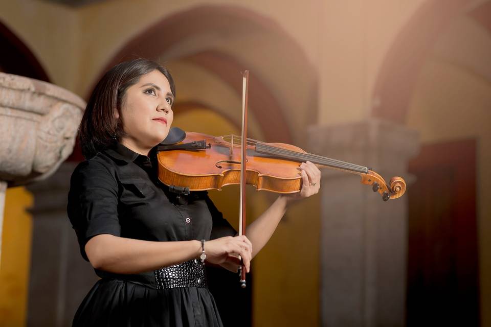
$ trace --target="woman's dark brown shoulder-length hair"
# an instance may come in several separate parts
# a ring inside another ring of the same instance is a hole
[[[167,68],[148,59],[139,58],[121,62],[104,74],[88,99],[78,129],[85,159],[92,158],[97,152],[113,145],[124,136],[121,107],[126,90],[138,83],[142,75],[151,73],[155,69],[167,78],[175,97],[174,80]],[[120,118],[115,118],[114,109],[118,110]]]

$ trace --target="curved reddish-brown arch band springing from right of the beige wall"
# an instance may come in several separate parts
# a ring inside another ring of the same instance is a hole
[[[397,33],[375,81],[372,114],[404,124],[420,69],[440,33],[468,0],[430,0]]]

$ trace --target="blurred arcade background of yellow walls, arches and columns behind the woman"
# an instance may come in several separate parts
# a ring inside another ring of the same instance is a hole
[[[174,126],[211,135],[240,132],[249,69],[250,137],[406,178],[382,203],[324,172],[254,259],[245,325],[491,326],[491,1],[2,1],[0,49],[0,71],[85,100],[157,60]],[[64,213],[82,159],[7,191],[0,325],[69,325],[95,281]],[[254,219],[275,196],[249,191]],[[237,197],[212,193],[234,225]]]

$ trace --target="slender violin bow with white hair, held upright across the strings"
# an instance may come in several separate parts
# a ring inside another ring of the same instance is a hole
[[[247,161],[247,93],[249,88],[249,71],[242,76],[242,139],[240,141],[240,206],[239,206],[239,236],[245,235],[245,161]],[[245,288],[245,266],[240,267],[240,286]]]

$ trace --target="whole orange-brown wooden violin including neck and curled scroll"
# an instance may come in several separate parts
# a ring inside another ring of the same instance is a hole
[[[221,190],[223,186],[240,183],[240,137],[211,136],[186,132],[185,138],[171,146],[159,146],[157,156],[159,179],[166,185],[189,191]],[[358,174],[362,183],[372,185],[387,201],[406,191],[406,183],[393,177],[387,185],[370,169],[306,153],[299,147],[283,143],[263,143],[248,139],[246,183],[257,190],[296,193],[302,187],[300,162],[314,162],[319,168],[331,168]]]

